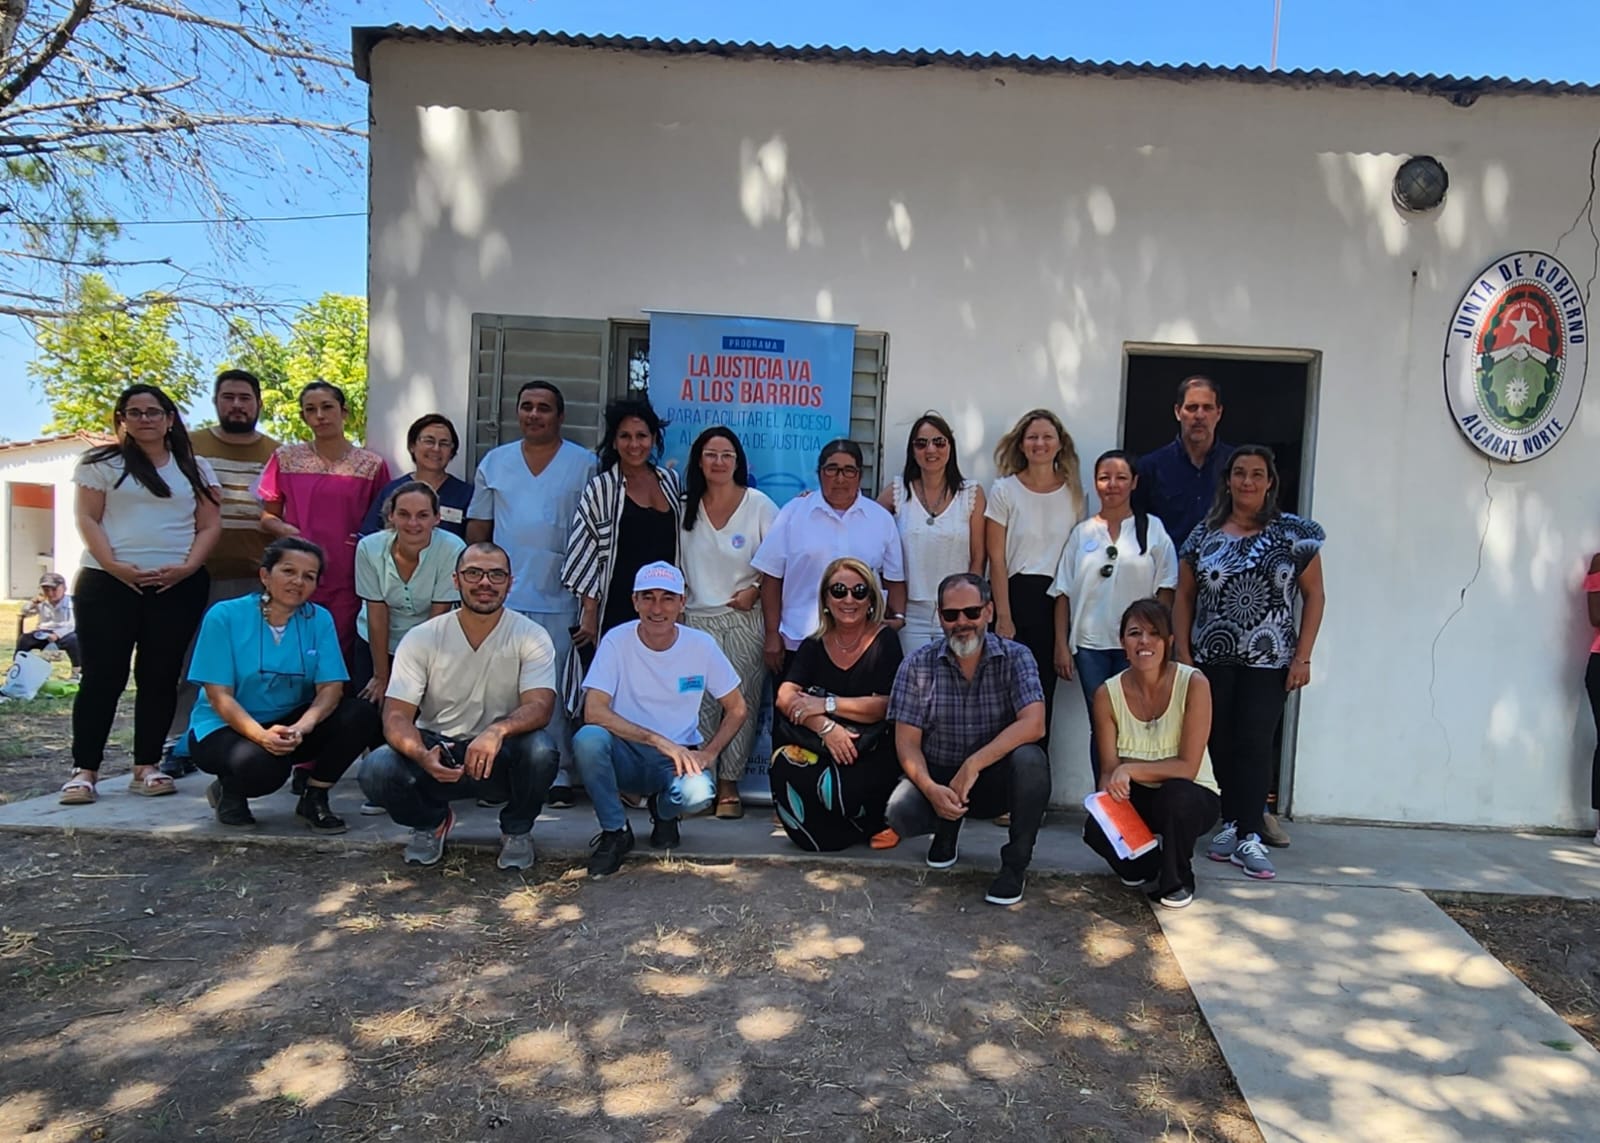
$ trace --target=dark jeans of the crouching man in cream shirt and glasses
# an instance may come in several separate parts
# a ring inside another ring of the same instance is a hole
[[[421,733],[429,749],[442,744],[458,759],[472,741],[451,741],[430,730]],[[466,775],[459,781],[438,781],[392,746],[379,746],[362,762],[360,780],[368,802],[384,807],[390,818],[411,829],[438,829],[450,804],[462,797],[506,802],[501,807],[501,832],[515,837],[530,832],[544,808],[544,796],[555,780],[555,743],[542,730],[510,735],[494,756],[490,776],[482,781]]]

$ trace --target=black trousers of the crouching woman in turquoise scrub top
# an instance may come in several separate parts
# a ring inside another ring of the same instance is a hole
[[[306,714],[290,711],[278,724],[288,725]],[[232,727],[221,727],[190,744],[194,764],[214,773],[222,789],[240,797],[266,797],[290,780],[290,770],[310,764],[310,776],[330,786],[350,768],[379,733],[378,708],[360,698],[344,698],[333,712],[312,727],[291,754],[272,754]]]

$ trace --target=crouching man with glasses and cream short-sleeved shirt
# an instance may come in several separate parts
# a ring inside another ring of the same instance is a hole
[[[434,864],[456,824],[450,804],[499,804],[501,869],[534,861],[533,823],[555,780],[555,652],[507,610],[510,557],[493,543],[456,559],[461,608],[406,632],[384,701],[386,746],[362,762],[362,792],[411,828],[405,860]]]

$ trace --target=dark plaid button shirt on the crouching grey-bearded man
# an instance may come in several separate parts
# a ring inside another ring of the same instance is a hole
[[[971,680],[944,639],[912,652],[894,676],[888,717],[922,730],[930,767],[955,770],[1016,722],[1024,706],[1043,701],[1034,653],[986,634]]]

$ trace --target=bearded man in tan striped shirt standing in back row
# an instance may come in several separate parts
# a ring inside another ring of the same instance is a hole
[[[205,570],[211,575],[206,607],[261,591],[258,568],[272,536],[261,530],[261,501],[256,499],[254,488],[261,471],[278,447],[277,440],[256,431],[261,416],[261,381],[254,373],[248,370],[218,373],[211,403],[216,407],[216,424],[189,435],[195,456],[211,461],[211,469],[222,483],[222,536],[205,562]],[[189,650],[194,653],[192,645]],[[189,679],[187,660],[179,679]],[[178,688],[178,711],[162,759],[162,773],[168,778],[179,778],[195,768],[189,760],[186,736],[197,693],[190,682]]]

